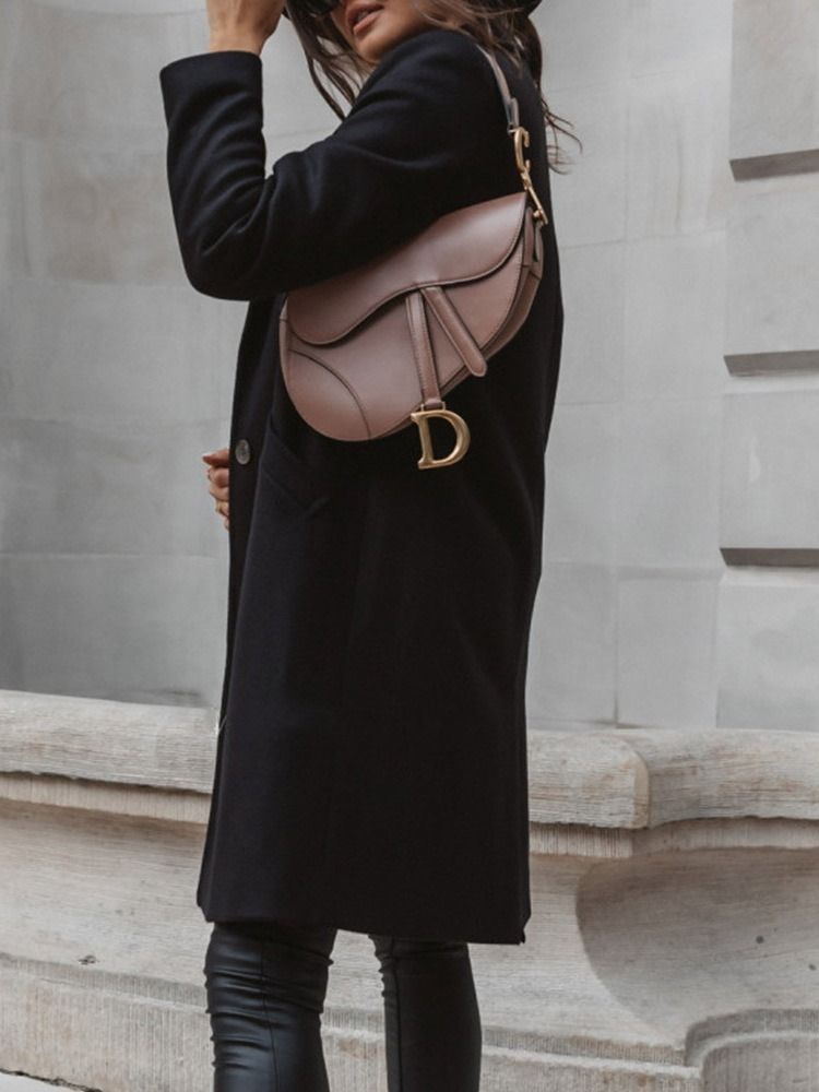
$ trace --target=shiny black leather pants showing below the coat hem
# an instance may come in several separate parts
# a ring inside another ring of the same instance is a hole
[[[329,1092],[321,1013],[336,929],[221,922],[205,954],[213,1092]],[[482,1029],[465,942],[370,934],[389,1092],[478,1092]]]

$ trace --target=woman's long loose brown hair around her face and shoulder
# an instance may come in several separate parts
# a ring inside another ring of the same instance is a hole
[[[524,8],[503,7],[497,0],[415,0],[418,13],[436,27],[447,27],[473,38],[486,49],[500,50],[513,61],[520,72],[529,72],[541,97],[544,116],[546,147],[550,169],[562,174],[560,166],[567,161],[557,142],[559,132],[571,136],[581,147],[582,142],[568,129],[571,122],[554,114],[541,87],[543,48],[541,37]],[[307,58],[310,79],[319,94],[336,117],[344,119],[344,110],[331,94],[322,78],[334,87],[348,105],[355,102],[366,78],[377,62],[360,57],[341,34],[330,15],[310,15],[297,2],[287,5],[287,14],[301,43]],[[561,124],[562,122],[562,124]],[[555,134],[549,141],[548,130]]]

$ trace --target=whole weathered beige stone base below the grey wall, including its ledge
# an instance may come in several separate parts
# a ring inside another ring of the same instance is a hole
[[[209,1087],[214,740],[203,710],[0,690],[0,1067]],[[526,943],[472,946],[484,1087],[819,1092],[819,734],[531,732],[529,773]],[[384,1092],[372,946],[333,958],[331,1084]]]

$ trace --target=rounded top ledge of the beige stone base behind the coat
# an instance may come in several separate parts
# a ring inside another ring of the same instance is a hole
[[[206,709],[0,690],[0,796],[128,815],[155,807],[163,818],[203,822],[198,797],[211,790],[214,719]],[[535,824],[638,831],[749,816],[819,821],[811,733],[530,731],[529,771]],[[128,786],[153,792],[142,799]]]

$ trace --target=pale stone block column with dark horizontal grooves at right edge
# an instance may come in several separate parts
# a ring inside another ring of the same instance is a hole
[[[719,723],[819,728],[819,5],[735,0]]]

